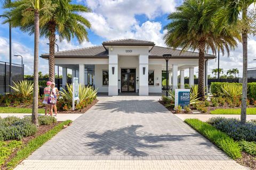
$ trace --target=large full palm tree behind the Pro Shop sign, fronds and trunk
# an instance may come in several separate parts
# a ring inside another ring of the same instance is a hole
[[[211,1],[206,0],[186,0],[177,7],[177,11],[169,14],[170,23],[164,29],[167,33],[164,36],[165,44],[183,50],[198,50],[198,96],[204,100],[204,54],[211,49],[216,54],[219,48],[222,53],[225,49],[229,55],[229,48],[234,48],[237,33],[228,25],[217,29],[213,24],[213,18],[203,20],[206,7]]]

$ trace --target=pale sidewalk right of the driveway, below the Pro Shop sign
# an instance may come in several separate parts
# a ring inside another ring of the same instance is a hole
[[[201,121],[206,122],[211,117],[226,117],[226,118],[239,118],[241,115],[213,115],[213,114],[174,114],[175,116],[179,117],[182,121],[186,118],[198,118]],[[256,115],[247,115],[246,120],[256,119]]]

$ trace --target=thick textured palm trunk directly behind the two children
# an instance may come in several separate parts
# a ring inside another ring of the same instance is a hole
[[[49,36],[49,81],[55,81],[55,24],[50,26],[50,36]]]

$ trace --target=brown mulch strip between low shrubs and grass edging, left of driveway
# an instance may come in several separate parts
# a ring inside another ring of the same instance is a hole
[[[30,140],[32,140],[32,139],[38,137],[39,135],[44,134],[44,133],[46,133],[47,131],[53,129],[53,128],[54,128],[55,126],[57,126],[59,123],[61,123],[61,122],[57,122],[57,123],[54,123],[54,124],[52,124],[52,125],[41,125],[41,126],[39,126],[38,131],[36,132],[36,134],[31,135],[31,136],[29,136],[29,137],[24,137],[24,138],[21,139],[21,141],[22,141],[22,146],[26,146],[27,143],[28,143]],[[8,141],[6,141],[6,142],[8,142]],[[12,152],[12,154],[9,156],[9,158],[6,159],[5,164],[1,166],[1,169],[4,169],[4,170],[7,169],[6,164],[7,164],[8,162],[10,162],[10,160],[16,155],[16,153],[17,153],[20,149],[21,149],[21,148],[15,149],[15,150]]]

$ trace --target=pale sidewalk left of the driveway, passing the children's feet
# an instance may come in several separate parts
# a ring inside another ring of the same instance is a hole
[[[44,115],[44,114],[38,114],[38,115]],[[74,121],[81,115],[83,114],[80,114],[80,113],[58,114],[58,116],[54,116],[54,117],[57,118],[57,121],[66,121],[66,120]],[[24,117],[24,116],[31,116],[31,113],[0,113],[0,117],[2,118],[7,116]]]

